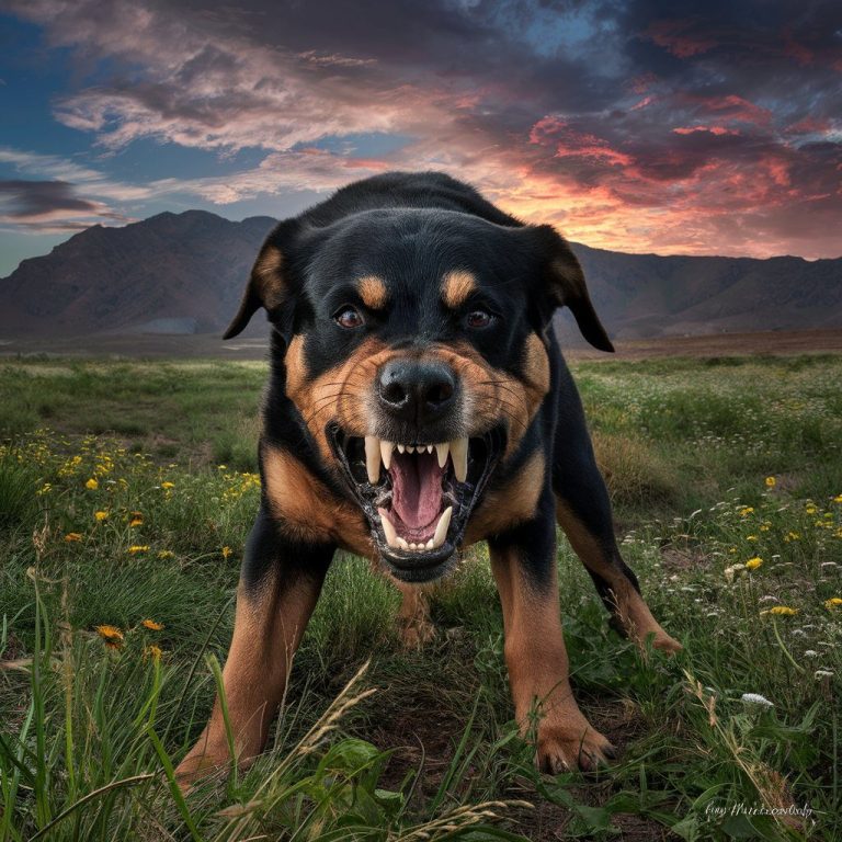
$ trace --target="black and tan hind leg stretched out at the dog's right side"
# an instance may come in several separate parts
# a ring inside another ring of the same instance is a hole
[[[640,645],[653,635],[657,649],[676,652],[681,644],[652,616],[640,595],[637,577],[621,556],[608,492],[596,467],[579,395],[566,369],[560,394],[553,459],[558,523],[591,574],[618,630]]]

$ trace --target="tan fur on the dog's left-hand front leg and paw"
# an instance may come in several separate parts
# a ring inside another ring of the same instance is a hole
[[[319,596],[320,583],[293,584],[270,572],[259,591],[240,583],[234,639],[223,670],[228,716],[240,765],[248,765],[266,741],[269,726],[284,694],[293,656]],[[186,788],[203,774],[229,762],[219,699],[198,741],[175,774]]]

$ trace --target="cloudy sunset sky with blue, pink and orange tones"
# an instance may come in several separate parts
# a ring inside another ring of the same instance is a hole
[[[0,0],[0,276],[394,169],[660,254],[842,255],[838,0]]]

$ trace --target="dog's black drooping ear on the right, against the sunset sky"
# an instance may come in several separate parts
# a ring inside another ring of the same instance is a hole
[[[538,238],[544,292],[550,303],[546,320],[557,307],[569,307],[582,335],[600,351],[613,351],[614,345],[593,309],[584,272],[567,240],[551,225],[539,225],[531,231]]]

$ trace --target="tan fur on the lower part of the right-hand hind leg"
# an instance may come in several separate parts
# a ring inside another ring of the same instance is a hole
[[[600,543],[591,535],[579,519],[561,501],[556,503],[558,523],[565,531],[570,545],[589,570],[602,577],[611,588],[617,618],[628,637],[642,644],[648,635],[655,635],[656,649],[678,652],[681,644],[670,637],[652,616],[642,596],[635,590],[628,578],[605,557]]]

